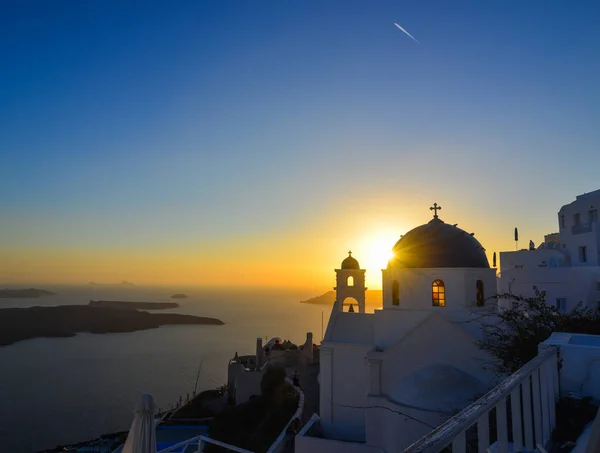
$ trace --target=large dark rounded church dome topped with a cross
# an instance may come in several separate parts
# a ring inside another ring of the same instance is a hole
[[[388,267],[490,267],[485,249],[472,234],[444,223],[437,215],[402,236],[392,251]]]

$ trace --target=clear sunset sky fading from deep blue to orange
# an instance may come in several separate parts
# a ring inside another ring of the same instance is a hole
[[[600,4],[0,3],[0,284],[381,286],[600,188]],[[410,32],[419,43],[402,33]]]

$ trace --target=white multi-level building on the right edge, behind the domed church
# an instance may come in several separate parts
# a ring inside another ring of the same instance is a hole
[[[546,292],[546,303],[559,311],[579,302],[600,308],[600,190],[578,195],[558,211],[558,233],[537,248],[500,253],[498,291],[532,296]]]

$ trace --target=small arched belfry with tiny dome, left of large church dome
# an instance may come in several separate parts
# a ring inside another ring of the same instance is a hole
[[[341,269],[335,270],[336,286],[333,289],[336,292],[339,311],[344,311],[344,306],[349,306],[353,312],[365,312],[365,292],[367,291],[365,272],[366,270],[361,269],[356,258],[352,256],[352,252],[348,252],[348,257],[342,261]],[[348,298],[355,299],[356,303],[354,301],[350,303],[346,300]],[[352,304],[357,304],[358,310]]]

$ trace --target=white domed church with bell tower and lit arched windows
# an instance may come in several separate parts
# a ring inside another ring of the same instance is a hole
[[[470,322],[496,294],[496,271],[440,209],[394,245],[381,309],[366,313],[360,257],[349,253],[335,270],[319,376],[322,441],[333,450],[401,451],[496,382]]]

